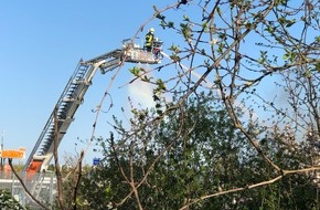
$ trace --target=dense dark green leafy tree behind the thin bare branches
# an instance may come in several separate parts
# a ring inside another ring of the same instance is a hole
[[[273,168],[249,146],[222,104],[213,98],[212,92],[198,94],[159,124],[148,124],[131,136],[122,133],[119,139],[114,135],[107,140],[100,138],[105,159],[83,182],[83,198],[96,198],[87,202],[88,209],[106,206],[179,209],[202,195],[271,179]],[[156,111],[145,111],[141,118],[141,113],[135,114],[132,124],[143,124],[157,115]],[[121,124],[118,128],[122,130]],[[263,127],[257,125],[255,129]],[[305,145],[288,146],[287,137],[287,133],[274,129],[259,140],[259,146],[280,167],[298,169],[310,162]],[[312,175],[285,177],[264,188],[199,201],[191,209],[316,208],[318,186],[313,178]]]

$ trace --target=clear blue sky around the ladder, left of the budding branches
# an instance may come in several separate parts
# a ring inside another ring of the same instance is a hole
[[[161,8],[172,2],[175,1],[2,1],[0,132],[4,132],[4,148],[25,147],[28,157],[79,59],[89,60],[120,48],[121,40],[132,36],[152,15],[153,4]],[[157,30],[158,22],[149,27]],[[118,77],[111,94],[120,107],[128,93],[137,94],[137,86],[118,88],[130,75],[124,72]],[[109,80],[110,74],[96,74],[60,146],[62,155],[75,151],[77,137],[90,137],[95,117],[90,111],[100,102]],[[148,87],[138,88],[141,90],[148,93]],[[107,136],[107,115],[102,115],[96,136]],[[77,150],[85,147],[78,145]],[[86,161],[90,164],[95,156],[98,155],[89,149]]]

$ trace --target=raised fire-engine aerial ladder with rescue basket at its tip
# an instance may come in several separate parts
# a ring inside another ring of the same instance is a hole
[[[75,113],[83,103],[84,96],[98,70],[105,74],[119,67],[124,62],[158,64],[162,60],[161,52],[161,41],[154,41],[153,49],[149,52],[140,48],[132,40],[125,40],[121,49],[113,50],[88,61],[81,60],[54,106],[34,148],[30,153],[23,170],[26,174],[35,174],[47,169],[53,158],[55,135],[58,145],[70,125],[74,122]]]

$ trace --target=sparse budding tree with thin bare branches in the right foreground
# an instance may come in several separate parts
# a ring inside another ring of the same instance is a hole
[[[171,9],[177,9],[172,13],[174,17],[181,15],[181,21],[173,19],[169,12]],[[274,192],[273,189],[277,189],[274,185],[278,185],[279,180],[285,183],[287,177],[291,177],[289,175],[300,176],[302,172],[308,176],[319,170],[317,150],[312,153],[311,164],[302,160],[297,160],[298,162],[286,160],[284,165],[282,161],[287,155],[281,154],[288,151],[268,150],[269,143],[264,145],[262,141],[269,140],[265,136],[275,128],[279,128],[281,135],[286,134],[286,129],[290,130],[290,138],[280,138],[284,141],[290,139],[294,143],[302,143],[307,139],[306,134],[310,134],[313,141],[319,141],[318,17],[319,2],[309,0],[302,2],[209,0],[178,2],[163,10],[154,7],[153,18],[160,21],[160,27],[172,39],[168,55],[170,62],[156,69],[160,72],[158,77],[154,76],[156,71],[146,72],[136,67],[136,71],[131,72],[135,72],[135,80],[142,80],[154,85],[156,115],[146,118],[145,111],[132,109],[141,122],[131,122],[132,128],[128,132],[117,128],[122,132],[124,138],[120,138],[121,144],[111,143],[111,148],[118,156],[120,151],[135,154],[129,156],[129,159],[125,159],[128,161],[130,176],[122,174],[122,177],[130,186],[130,195],[135,195],[139,209],[142,209],[141,199],[143,198],[139,189],[150,178],[151,171],[162,156],[170,154],[181,136],[171,136],[170,144],[162,147],[153,143],[153,147],[159,151],[156,153],[157,155],[153,154],[156,157],[150,164],[151,167],[145,170],[134,167],[134,160],[137,160],[135,145],[143,145],[141,136],[150,132],[148,125],[161,125],[161,122],[166,122],[172,113],[185,115],[188,109],[183,104],[192,97],[201,101],[202,96],[199,96],[201,91],[214,90],[216,92],[215,99],[224,105],[235,130],[245,137],[246,143],[249,143],[253,149],[250,156],[263,160],[253,161],[253,165],[244,167],[250,169],[258,164],[258,175],[266,176],[262,177],[264,179],[254,179],[255,182],[243,180],[246,181],[246,187],[243,186],[245,182],[238,187],[237,185],[227,186],[222,192],[213,189],[211,192],[196,191],[198,199],[189,200],[188,193],[183,195],[185,201],[178,203],[181,209],[192,208],[212,197],[241,193],[266,185]],[[146,25],[143,24],[141,30],[143,27]],[[139,74],[141,72],[143,72],[142,76]],[[149,75],[151,73],[153,75]],[[180,94],[173,103],[167,99],[166,96],[178,92]],[[186,139],[192,139],[183,129],[186,124],[186,119],[179,119],[170,130],[181,132],[186,135],[184,136]],[[276,137],[276,133],[271,134]],[[139,140],[142,143],[137,144]],[[158,139],[154,138],[153,141],[156,140]],[[198,144],[192,140],[186,143],[190,145],[180,145],[180,147],[189,148]],[[287,144],[289,147],[291,143]],[[195,158],[193,153],[185,150],[186,154],[175,153],[174,156],[180,158]],[[248,159],[252,160],[252,157]],[[120,168],[124,168],[122,165]],[[254,167],[254,172],[255,169]],[[142,178],[139,171],[142,172]],[[139,174],[137,180],[140,181],[137,183],[134,181],[136,180],[134,175],[137,175],[135,172]],[[192,177],[192,174],[186,177]],[[312,186],[311,182],[310,185]],[[292,197],[289,198],[290,201],[292,199]],[[317,204],[318,200],[314,203]]]

